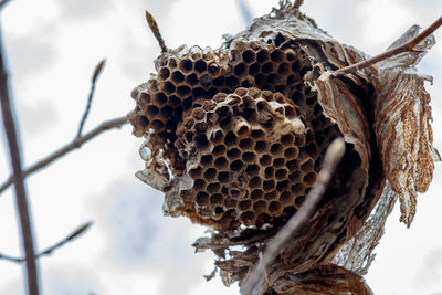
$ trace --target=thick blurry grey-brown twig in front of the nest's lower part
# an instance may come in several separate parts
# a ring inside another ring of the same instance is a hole
[[[269,264],[276,257],[280,249],[291,239],[291,236],[293,236],[293,234],[296,233],[296,231],[299,230],[304,222],[306,222],[307,219],[311,217],[317,202],[320,200],[324,192],[326,191],[328,182],[330,181],[332,176],[335,172],[336,166],[343,158],[344,152],[345,143],[343,138],[335,139],[327,148],[323,168],[318,173],[315,186],[313,186],[312,190],[308,192],[299,210],[287,221],[284,228],[282,228],[275,234],[273,240],[269,243],[256,267],[244,280],[243,285],[241,286],[242,294],[253,294],[254,286],[260,281],[260,278],[265,275]]]

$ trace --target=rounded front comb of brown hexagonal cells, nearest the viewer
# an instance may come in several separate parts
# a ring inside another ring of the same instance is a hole
[[[198,204],[194,214],[222,224],[262,225],[260,220],[269,219],[257,219],[261,213],[278,218],[287,206],[296,210],[291,188],[305,191],[316,177],[317,157],[305,146],[311,127],[303,120],[282,94],[257,88],[239,87],[193,108],[176,147],[189,167],[185,173],[193,185],[186,194]]]

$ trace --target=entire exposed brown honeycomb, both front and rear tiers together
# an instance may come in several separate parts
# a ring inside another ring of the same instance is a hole
[[[213,51],[181,46],[133,91],[128,119],[149,134],[179,189],[178,209],[218,229],[262,226],[296,212],[340,131],[305,82],[304,49],[281,33]],[[267,122],[269,120],[269,122]]]

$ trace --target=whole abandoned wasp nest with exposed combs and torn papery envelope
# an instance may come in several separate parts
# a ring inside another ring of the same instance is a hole
[[[131,93],[128,119],[146,138],[137,177],[165,192],[166,214],[213,229],[194,245],[218,255],[224,284],[241,285],[305,201],[328,145],[344,137],[345,155],[315,213],[254,294],[369,293],[359,275],[372,247],[351,265],[339,257],[357,241],[378,241],[383,225],[368,218],[380,199],[376,212],[387,215],[398,194],[410,224],[417,192],[428,189],[438,155],[424,78],[413,66],[433,43],[431,36],[423,52],[338,73],[366,55],[288,1],[220,49],[162,43],[157,74]],[[231,249],[238,245],[243,251]]]

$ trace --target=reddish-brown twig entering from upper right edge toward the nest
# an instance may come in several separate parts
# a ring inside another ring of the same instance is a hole
[[[376,56],[372,56],[370,59],[367,59],[365,61],[361,61],[359,63],[355,63],[352,65],[339,69],[336,71],[336,73],[355,73],[356,71],[359,71],[364,67],[370,66],[375,63],[378,63],[380,61],[390,59],[394,55],[398,55],[403,52],[419,52],[419,50],[415,49],[415,46],[423,41],[425,38],[428,38],[430,34],[432,34],[435,30],[439,29],[439,27],[442,25],[442,17],[439,18],[435,22],[433,22],[430,27],[428,27],[425,30],[423,30],[420,34],[408,41],[407,43],[393,48],[391,50],[388,50],[381,54],[378,54]]]

